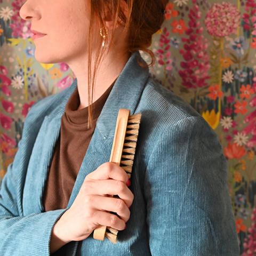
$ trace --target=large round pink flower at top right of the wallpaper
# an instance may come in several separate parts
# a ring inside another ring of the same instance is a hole
[[[240,13],[233,4],[213,4],[205,17],[205,26],[212,36],[225,37],[235,34],[239,26]]]

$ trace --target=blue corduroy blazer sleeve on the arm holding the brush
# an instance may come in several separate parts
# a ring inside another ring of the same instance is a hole
[[[33,105],[34,106],[34,105]],[[55,222],[68,209],[43,213],[22,214],[22,191],[26,172],[21,171],[26,149],[31,109],[23,126],[18,151],[0,187],[0,255],[1,256],[49,256],[51,232]]]

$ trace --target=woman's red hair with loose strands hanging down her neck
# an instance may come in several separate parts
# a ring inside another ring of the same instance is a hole
[[[127,12],[124,12],[122,9],[122,1],[127,3]],[[88,42],[88,123],[87,127],[92,127],[92,97],[91,90],[93,92],[95,84],[95,76],[100,66],[103,54],[105,53],[106,47],[101,47],[103,38],[100,36],[100,33],[95,33],[94,22],[97,18],[100,22],[100,27],[105,27],[104,25],[104,14],[105,9],[112,13],[114,28],[118,22],[123,23],[124,32],[127,32],[127,52],[133,53],[135,51],[144,51],[148,53],[151,57],[151,62],[148,67],[153,66],[155,63],[154,53],[148,49],[152,42],[152,36],[155,34],[162,26],[164,22],[164,13],[165,6],[168,3],[168,0],[91,0],[91,19],[89,25],[89,42]],[[126,15],[125,15],[126,14]],[[108,37],[106,37],[105,44],[109,44],[109,49],[113,44],[113,35],[114,30],[112,30],[111,41],[108,42]],[[98,55],[95,58],[94,70],[91,75],[91,62],[92,62],[92,42],[93,36],[98,35],[100,43],[98,45]],[[138,62],[141,67],[143,63]]]

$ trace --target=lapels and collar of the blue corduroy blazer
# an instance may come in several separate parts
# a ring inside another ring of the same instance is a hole
[[[139,51],[132,53],[101,110],[67,207],[73,204],[86,175],[96,170],[101,164],[109,162],[119,109],[127,108],[130,109],[131,115],[135,114],[134,111],[137,108],[141,93],[149,77],[148,68],[140,67],[137,59],[146,64]],[[29,187],[27,189],[25,187],[24,191],[25,201],[28,202],[27,204],[25,203],[26,207],[24,207],[27,214],[44,211],[42,197],[54,146],[60,133],[61,117],[65,112],[66,103],[76,87],[77,79],[67,89],[61,103],[58,101],[54,103],[56,104],[54,110],[45,116],[39,130],[33,148],[35,154],[31,154],[28,166],[27,179],[30,180]],[[41,154],[38,155],[36,154],[37,152]],[[31,195],[33,195],[33,202],[31,202]]]

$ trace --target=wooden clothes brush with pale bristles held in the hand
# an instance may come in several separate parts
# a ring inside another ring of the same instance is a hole
[[[116,129],[109,162],[121,166],[129,175],[129,178],[131,178],[132,173],[140,119],[141,113],[130,115],[129,109],[121,108],[119,109],[116,120]],[[113,197],[112,195],[110,196]],[[114,197],[119,198],[117,195]],[[93,238],[103,241],[106,236],[112,243],[117,243],[117,234],[117,229],[100,225],[93,231]]]

